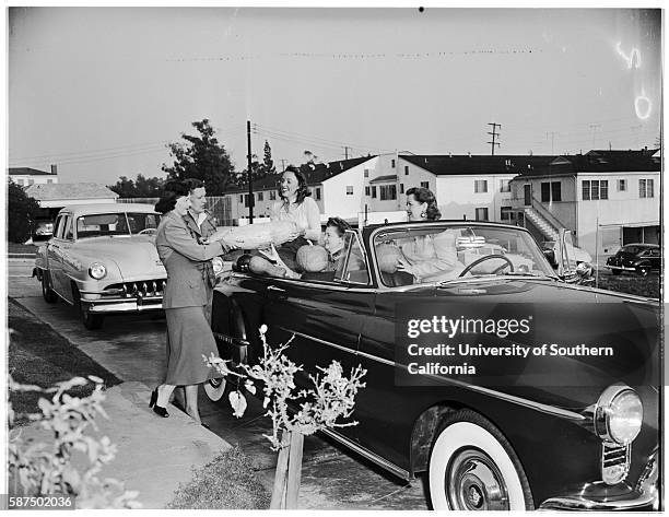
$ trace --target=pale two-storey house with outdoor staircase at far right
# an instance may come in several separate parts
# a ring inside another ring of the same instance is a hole
[[[648,149],[556,156],[512,180],[513,212],[539,242],[572,230],[592,257],[627,243],[658,244],[660,166]]]

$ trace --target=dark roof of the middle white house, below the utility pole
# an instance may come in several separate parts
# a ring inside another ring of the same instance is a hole
[[[400,157],[437,176],[520,174],[528,168],[541,168],[551,163],[553,155],[467,155],[467,154],[402,154]]]

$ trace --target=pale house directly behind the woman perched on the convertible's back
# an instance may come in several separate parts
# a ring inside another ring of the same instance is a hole
[[[324,222],[333,215],[357,221],[357,215],[364,208],[362,205],[363,171],[366,164],[374,160],[375,156],[363,156],[325,164],[303,165],[302,169],[307,177],[312,198],[318,204]],[[280,199],[278,190],[280,179],[281,175],[277,174],[254,181],[254,220],[269,218],[272,204]],[[248,218],[248,187],[231,189],[224,197],[226,204],[230,203],[231,207],[232,222]],[[225,224],[232,224],[232,222]]]

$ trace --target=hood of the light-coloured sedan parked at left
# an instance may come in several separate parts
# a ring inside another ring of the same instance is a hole
[[[116,263],[125,281],[167,275],[155,248],[155,238],[149,235],[95,237],[79,240],[75,247],[91,260]]]

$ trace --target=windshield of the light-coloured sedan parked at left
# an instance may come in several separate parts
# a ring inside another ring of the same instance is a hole
[[[77,238],[149,234],[157,228],[155,213],[94,213],[77,218]]]

